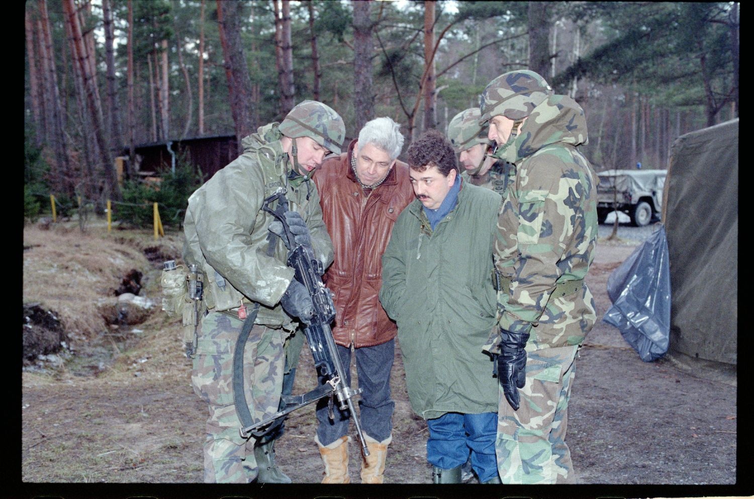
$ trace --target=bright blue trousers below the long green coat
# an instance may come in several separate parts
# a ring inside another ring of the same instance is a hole
[[[463,465],[471,451],[471,467],[480,482],[498,476],[495,437],[498,414],[461,414],[446,412],[440,418],[428,419],[427,461],[443,470]]]

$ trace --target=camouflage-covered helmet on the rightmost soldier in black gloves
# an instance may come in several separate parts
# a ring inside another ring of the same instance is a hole
[[[480,98],[480,124],[494,116],[522,120],[553,94],[540,75],[528,69],[509,71],[490,81]]]

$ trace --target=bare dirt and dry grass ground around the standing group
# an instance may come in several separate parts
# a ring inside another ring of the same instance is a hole
[[[610,306],[609,274],[636,248],[636,241],[601,242],[587,276],[599,319]],[[699,376],[667,357],[645,363],[618,329],[600,320],[580,351],[569,408],[566,441],[580,485],[544,492],[480,488],[476,480],[418,485],[431,483],[428,433],[410,409],[400,349],[385,469],[393,485],[311,485],[323,473],[313,405],[290,415],[276,446],[277,462],[294,484],[309,485],[204,485],[207,409],[192,391],[178,324],[160,311],[159,269],[164,259],[179,260],[180,234],[155,241],[151,231],[107,234],[91,227],[82,234],[78,225],[37,225],[24,229],[23,243],[24,304],[60,320],[66,349],[23,360],[20,473],[9,489],[15,495],[3,497],[698,497],[740,495],[746,483],[737,482],[735,375]],[[133,268],[143,273],[139,296],[155,303],[138,323],[129,321],[138,315],[133,310],[118,316],[123,309],[114,295]],[[24,335],[39,327],[25,318]],[[294,393],[313,386],[304,348]],[[351,478],[358,483],[354,443]]]

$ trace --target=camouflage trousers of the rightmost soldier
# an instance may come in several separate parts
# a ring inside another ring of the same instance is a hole
[[[566,445],[568,403],[578,346],[527,352],[526,384],[514,411],[500,388],[498,472],[507,484],[552,484],[574,481]]]

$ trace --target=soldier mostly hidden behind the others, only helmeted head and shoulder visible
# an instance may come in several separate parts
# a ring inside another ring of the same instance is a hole
[[[513,165],[492,158],[492,142],[487,138],[486,127],[480,127],[479,117],[479,108],[459,112],[448,124],[447,136],[463,167],[461,177],[505,199],[513,178]]]

